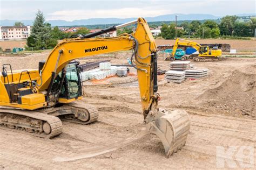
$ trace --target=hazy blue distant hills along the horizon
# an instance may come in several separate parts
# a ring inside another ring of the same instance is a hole
[[[147,22],[160,22],[160,21],[173,21],[175,16],[178,15],[178,20],[205,20],[205,19],[219,19],[219,16],[213,16],[208,14],[182,14],[174,13],[170,15],[162,15],[157,17],[145,17]],[[237,16],[255,16],[255,14],[241,14]],[[68,22],[65,20],[47,20],[52,26],[72,26],[72,25],[97,25],[97,24],[115,24],[115,23],[126,23],[137,18],[90,18],[90,19],[79,19]],[[25,25],[32,25],[33,20],[0,20],[1,26],[11,26],[15,22],[23,22]]]

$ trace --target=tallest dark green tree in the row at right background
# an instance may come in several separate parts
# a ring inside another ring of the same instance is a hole
[[[220,34],[225,36],[232,36],[232,33],[234,31],[234,23],[237,19],[237,16],[225,16],[221,18],[219,26]]]

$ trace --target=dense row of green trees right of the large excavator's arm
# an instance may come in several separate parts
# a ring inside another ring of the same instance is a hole
[[[225,16],[220,23],[206,20],[204,23],[193,20],[177,25],[177,37],[219,38],[219,37],[253,37],[256,28],[256,18],[251,17],[247,22],[239,22],[238,16]],[[161,34],[164,39],[176,37],[176,24],[162,24]],[[183,27],[183,29],[179,29]]]

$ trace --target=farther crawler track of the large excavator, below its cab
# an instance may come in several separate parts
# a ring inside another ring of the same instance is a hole
[[[63,121],[78,124],[89,124],[97,121],[99,117],[97,108],[82,102],[72,102],[61,107],[51,107],[38,111],[47,115],[58,116]]]

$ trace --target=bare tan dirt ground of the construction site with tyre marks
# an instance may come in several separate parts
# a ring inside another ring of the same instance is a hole
[[[0,57],[14,69],[38,68],[48,51],[25,57]],[[130,53],[93,56],[80,60],[126,63]],[[170,61],[159,56],[158,66]],[[252,146],[256,167],[256,58],[227,58],[218,62],[193,63],[207,68],[208,76],[167,83],[158,77],[159,107],[184,109],[191,118],[185,147],[169,159],[160,140],[144,132],[138,83],[84,86],[86,102],[99,110],[90,125],[63,122],[63,133],[42,139],[0,129],[0,169],[170,169],[217,167],[217,146]],[[135,70],[131,68],[131,72]],[[115,77],[114,82],[123,82]],[[131,76],[131,79],[134,79]],[[225,158],[223,156],[222,158]],[[248,159],[241,160],[248,163]],[[239,160],[235,161],[241,167]],[[227,164],[225,166],[228,168]]]

